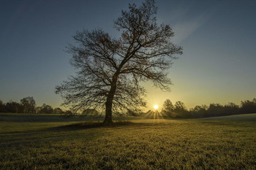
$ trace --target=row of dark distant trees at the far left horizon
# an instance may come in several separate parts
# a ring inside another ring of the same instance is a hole
[[[59,107],[53,109],[48,104],[42,104],[41,107],[37,107],[33,97],[26,97],[22,98],[19,103],[16,101],[4,103],[0,100],[0,112],[61,114],[70,111],[63,111]]]

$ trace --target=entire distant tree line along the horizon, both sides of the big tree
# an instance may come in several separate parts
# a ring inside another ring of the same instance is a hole
[[[0,112],[12,112],[12,113],[45,113],[45,114],[66,114],[72,115],[70,110],[62,110],[59,107],[53,109],[48,104],[42,104],[41,107],[37,107],[36,101],[33,97],[22,98],[20,102],[9,101],[4,103],[0,100]],[[173,104],[167,99],[162,107],[162,114],[167,117],[176,118],[198,118],[198,117],[214,117],[214,116],[225,116],[225,115],[239,115],[247,113],[256,113],[256,98],[252,101],[245,100],[241,101],[241,105],[234,103],[222,104],[203,104],[201,106],[195,106],[192,109],[187,109],[182,101],[176,101]],[[82,115],[99,115],[99,112],[95,109],[85,109]],[[126,115],[138,115],[135,112],[129,111]]]

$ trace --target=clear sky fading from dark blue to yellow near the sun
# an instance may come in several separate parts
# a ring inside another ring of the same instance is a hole
[[[118,35],[113,21],[129,3],[141,1],[1,0],[0,100],[33,96],[38,106],[59,107],[55,87],[75,73],[65,52],[72,36],[94,28]],[[166,99],[189,109],[255,98],[255,6],[253,0],[157,1],[158,22],[173,28],[172,41],[184,54],[168,71],[170,92],[143,84],[148,109]]]

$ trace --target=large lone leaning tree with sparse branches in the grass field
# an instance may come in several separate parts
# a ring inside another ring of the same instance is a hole
[[[156,15],[155,1],[146,0],[140,7],[129,4],[128,11],[121,11],[114,22],[121,32],[118,39],[101,29],[78,31],[73,36],[77,44],[67,47],[77,74],[56,86],[64,106],[74,112],[105,109],[104,123],[110,124],[113,112],[146,107],[146,90],[140,82],[169,90],[167,70],[182,48],[170,41],[172,29],[157,24]]]

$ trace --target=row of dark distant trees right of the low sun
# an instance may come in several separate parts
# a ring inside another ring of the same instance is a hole
[[[234,103],[222,104],[209,104],[195,106],[192,109],[187,109],[182,101],[176,101],[173,104],[167,99],[163,104],[162,112],[168,117],[214,117],[225,115],[238,115],[247,113],[256,113],[256,98],[252,101],[241,101],[241,105]]]

